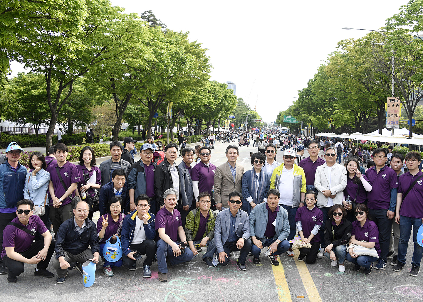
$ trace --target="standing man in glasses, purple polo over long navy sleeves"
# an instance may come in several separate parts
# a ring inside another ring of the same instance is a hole
[[[372,186],[372,190],[367,192],[369,215],[379,229],[380,254],[375,269],[386,267],[398,188],[398,176],[393,169],[386,166],[386,156],[386,149],[374,150],[375,166],[367,169],[365,174]]]

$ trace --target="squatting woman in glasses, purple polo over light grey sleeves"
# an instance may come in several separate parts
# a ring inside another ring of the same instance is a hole
[[[317,253],[320,248],[319,229],[323,225],[323,212],[316,207],[317,193],[308,190],[305,192],[305,204],[307,207],[299,207],[295,214],[295,222],[298,234],[302,243],[310,243],[310,248],[300,248],[298,261],[304,261],[307,264],[316,262]]]

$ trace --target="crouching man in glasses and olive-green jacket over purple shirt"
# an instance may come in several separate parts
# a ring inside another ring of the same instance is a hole
[[[216,213],[210,209],[211,196],[209,193],[201,192],[198,195],[198,203],[200,207],[188,213],[185,234],[194,256],[201,252],[201,247],[208,247],[207,252],[203,255],[203,262],[208,267],[213,267],[211,258],[213,258],[216,249],[214,245]]]

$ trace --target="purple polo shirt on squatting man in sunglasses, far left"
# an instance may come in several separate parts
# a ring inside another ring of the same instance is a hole
[[[23,226],[18,217],[14,218],[11,222]],[[45,224],[37,215],[30,216],[27,229],[36,231],[40,234],[44,234],[48,231]],[[16,226],[7,225],[3,231],[3,250],[1,251],[1,258],[6,255],[5,247],[15,247],[14,251],[16,253],[23,253],[31,247],[33,240],[34,236],[16,228]]]

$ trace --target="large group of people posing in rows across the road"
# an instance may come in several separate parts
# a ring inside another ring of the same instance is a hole
[[[409,171],[401,173],[397,168],[404,157],[392,155],[388,167],[387,151],[378,148],[373,151],[375,166],[364,174],[354,158],[345,166],[336,163],[335,147],[320,158],[318,141],[308,143],[310,156],[300,161],[301,155],[285,149],[281,163],[270,143],[264,152],[251,155],[253,168],[244,171],[236,163],[236,145],[228,145],[227,161],[216,167],[207,146],[183,148],[182,162],[176,165],[178,144],[165,146],[159,164],[152,161],[151,144],[142,145],[135,163],[129,158],[134,141],[128,138],[124,144],[111,142],[111,159],[97,167],[91,147],[82,148],[74,165],[66,160],[66,145],[58,143],[46,157],[33,152],[28,173],[19,163],[22,148],[16,142],[8,146],[7,161],[0,165],[0,274],[7,273],[14,283],[28,263],[37,264],[34,275],[52,278],[47,266],[55,251],[57,283],[66,281],[69,269],[82,274],[87,259],[104,262],[104,274],[112,277],[113,267],[135,270],[145,255],[143,277],[151,277],[157,260],[158,278],[166,282],[169,268],[191,261],[202,248],[208,267],[228,265],[231,251],[240,251],[236,265],[246,270],[248,254],[259,264],[265,247],[272,265],[279,265],[277,256],[293,257],[299,249],[298,261],[313,264],[326,256],[343,272],[346,259],[355,264],[354,270],[363,267],[364,274],[373,267],[384,269],[393,254],[390,264],[399,271],[406,263],[412,228],[409,274],[419,274],[423,248],[416,236],[423,218],[423,173],[418,152],[405,156]],[[199,161],[192,166],[195,154]],[[295,241],[297,232],[300,240]],[[122,258],[108,261],[104,245],[118,239]]]

